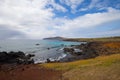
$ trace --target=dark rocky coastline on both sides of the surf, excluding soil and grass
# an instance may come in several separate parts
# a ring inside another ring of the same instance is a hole
[[[105,56],[110,54],[120,53],[120,42],[119,41],[108,41],[108,42],[86,42],[81,45],[65,46],[63,48],[66,57],[59,61],[51,61],[49,58],[46,63],[54,62],[71,62],[81,59],[90,59],[98,56]],[[33,54],[25,54],[24,52],[0,52],[0,64],[34,64],[32,57]]]

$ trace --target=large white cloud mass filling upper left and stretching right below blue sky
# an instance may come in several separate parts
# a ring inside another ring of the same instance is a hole
[[[71,3],[67,4],[77,6],[81,2],[71,0]],[[53,8],[46,8],[49,4]],[[66,11],[54,0],[0,0],[1,38],[40,39],[56,35],[68,36],[74,35],[73,31],[76,29],[90,28],[120,19],[120,11],[113,8],[108,8],[108,12],[86,14],[72,20],[65,17],[55,18],[54,9]]]

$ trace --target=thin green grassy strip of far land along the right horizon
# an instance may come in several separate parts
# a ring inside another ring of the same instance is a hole
[[[83,41],[83,42],[93,42],[93,41],[120,41],[120,37],[66,38],[65,41]]]

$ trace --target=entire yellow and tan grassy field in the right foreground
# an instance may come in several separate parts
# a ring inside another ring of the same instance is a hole
[[[68,63],[40,64],[64,71],[63,80],[120,80],[120,54]]]

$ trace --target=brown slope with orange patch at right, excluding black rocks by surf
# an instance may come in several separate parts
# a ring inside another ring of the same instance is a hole
[[[76,47],[86,54],[91,53],[96,56],[120,53],[120,42],[89,42]]]

